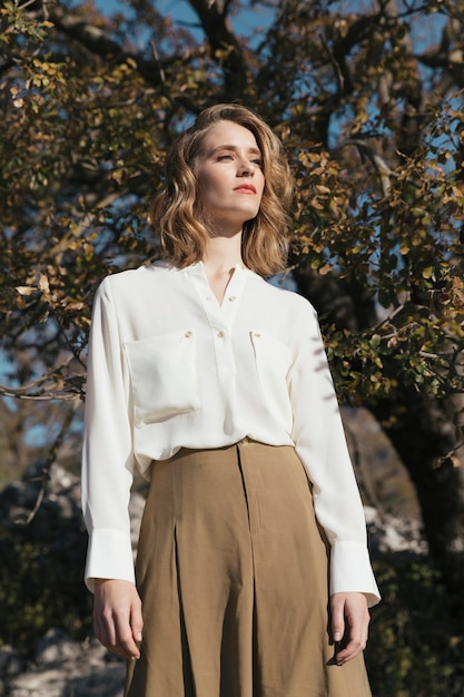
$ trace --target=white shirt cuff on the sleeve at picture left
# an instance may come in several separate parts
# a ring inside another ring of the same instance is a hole
[[[85,581],[93,592],[97,578],[136,582],[130,536],[120,530],[96,529],[89,534]]]

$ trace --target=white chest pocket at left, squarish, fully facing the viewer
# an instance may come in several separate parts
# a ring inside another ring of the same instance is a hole
[[[136,426],[199,409],[192,332],[126,342],[124,348],[130,371]]]

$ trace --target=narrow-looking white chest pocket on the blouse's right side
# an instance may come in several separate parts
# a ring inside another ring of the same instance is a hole
[[[293,412],[287,375],[293,362],[292,351],[278,338],[261,332],[251,332],[250,337],[266,406],[289,433]]]

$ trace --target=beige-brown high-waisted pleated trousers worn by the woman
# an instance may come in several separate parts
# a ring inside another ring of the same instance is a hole
[[[126,697],[369,697],[334,661],[327,549],[290,446],[244,440],[152,464]]]

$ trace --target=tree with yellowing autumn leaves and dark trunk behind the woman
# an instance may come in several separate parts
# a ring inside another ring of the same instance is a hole
[[[464,3],[186,4],[195,26],[149,0],[111,17],[91,2],[2,3],[4,404],[33,400],[37,422],[79,426],[91,298],[106,273],[157,255],[146,212],[166,148],[205,106],[246,104],[292,161],[292,274],[339,394],[397,449],[457,607]],[[253,41],[237,29],[251,10],[266,11]]]

